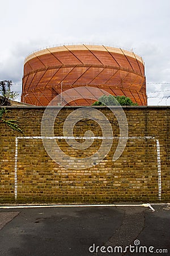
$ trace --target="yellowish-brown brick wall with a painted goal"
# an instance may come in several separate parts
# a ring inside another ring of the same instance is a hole
[[[113,162],[118,139],[113,139],[108,155],[91,168],[62,167],[44,149],[41,118],[44,107],[7,107],[6,118],[19,121],[22,134],[0,123],[0,202],[1,203],[113,203],[116,201],[169,201],[169,108],[125,107],[129,139],[125,150]],[[55,114],[57,108],[52,108]],[[63,136],[63,123],[75,107],[65,107],[57,115],[54,135]],[[113,136],[120,130],[117,119],[108,108],[96,107],[110,121]],[[96,117],[97,118],[97,117]],[[83,119],[76,123],[74,136],[91,130],[102,136],[97,122]],[[32,138],[30,138],[32,137]],[[37,138],[35,138],[37,137]],[[77,139],[84,142],[83,139]],[[101,139],[94,139],[87,150],[68,146],[57,139],[68,155],[85,157],[99,150]],[[59,157],[59,156],[58,156]],[[67,158],[65,159],[67,164]],[[79,162],[77,163],[79,164]],[[69,163],[68,163],[69,165]],[[86,166],[85,166],[86,167]]]

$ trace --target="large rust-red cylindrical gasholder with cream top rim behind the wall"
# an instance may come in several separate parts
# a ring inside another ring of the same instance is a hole
[[[23,102],[45,106],[67,89],[74,88],[76,95],[78,86],[97,87],[147,105],[144,63],[134,52],[83,44],[46,48],[25,59]],[[86,98],[83,89],[82,97]],[[73,100],[69,105],[91,105],[91,101]]]

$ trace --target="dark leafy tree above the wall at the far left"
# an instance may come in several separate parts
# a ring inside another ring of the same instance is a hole
[[[0,81],[0,95],[5,100],[15,100],[19,96],[17,92],[13,92],[11,90],[12,87],[12,81],[10,80],[3,80]]]

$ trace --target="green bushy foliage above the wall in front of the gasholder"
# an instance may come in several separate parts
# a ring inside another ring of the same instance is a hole
[[[125,96],[113,96],[113,95],[103,95],[99,98],[99,101],[94,102],[93,106],[137,106],[137,103],[133,103],[129,97]]]

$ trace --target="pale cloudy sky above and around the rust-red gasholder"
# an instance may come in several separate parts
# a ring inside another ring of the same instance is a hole
[[[142,56],[148,105],[170,105],[169,0],[1,0],[0,10],[0,80],[12,80],[14,90],[29,53],[95,43]]]

